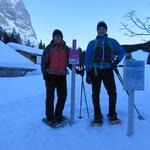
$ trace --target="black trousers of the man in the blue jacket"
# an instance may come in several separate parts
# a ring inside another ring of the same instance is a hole
[[[109,96],[109,115],[116,115],[116,84],[114,80],[114,73],[111,69],[97,69],[97,76],[95,76],[94,71],[91,72],[92,79],[92,98],[94,106],[94,116],[101,116],[100,108],[100,88],[101,82],[103,81],[104,87],[107,90]]]

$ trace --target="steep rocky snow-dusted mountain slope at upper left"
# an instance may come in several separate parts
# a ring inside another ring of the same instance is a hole
[[[25,42],[28,39],[32,43],[37,40],[30,14],[23,0],[0,0],[0,25],[7,32],[11,32],[15,28]]]

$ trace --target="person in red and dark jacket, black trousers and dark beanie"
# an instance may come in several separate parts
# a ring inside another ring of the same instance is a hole
[[[69,60],[69,49],[63,41],[60,30],[54,30],[52,41],[44,49],[41,70],[46,85],[46,118],[55,124],[61,123],[66,118],[63,109],[67,97],[66,74]],[[57,103],[54,107],[54,92],[57,90]]]

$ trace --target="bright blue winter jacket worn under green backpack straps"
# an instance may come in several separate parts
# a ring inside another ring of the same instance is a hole
[[[112,56],[115,55],[115,57],[117,56],[117,61],[118,63],[123,59],[124,55],[125,55],[125,51],[124,49],[120,46],[120,44],[112,38],[109,38],[111,41],[111,54]],[[93,49],[95,47],[95,42],[97,40],[97,44],[102,46],[102,53],[103,55],[106,55],[106,51],[105,51],[105,45],[110,45],[110,42],[108,41],[108,36],[105,35],[104,37],[97,37],[95,40],[92,40],[89,42],[88,46],[87,46],[87,50],[85,53],[85,66],[86,66],[86,70],[90,70],[92,67],[95,67],[94,64],[91,63],[91,59],[93,56]],[[111,63],[113,63],[114,58],[112,58],[110,63],[98,63],[96,64],[96,68],[97,69],[110,69],[111,68]]]

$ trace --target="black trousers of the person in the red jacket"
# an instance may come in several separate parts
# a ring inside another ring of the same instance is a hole
[[[46,85],[46,117],[48,120],[54,120],[55,117],[63,115],[63,109],[67,97],[66,76],[48,75],[45,80]],[[54,108],[54,94],[57,90],[57,103]]]

